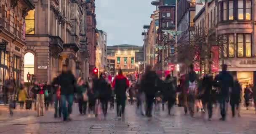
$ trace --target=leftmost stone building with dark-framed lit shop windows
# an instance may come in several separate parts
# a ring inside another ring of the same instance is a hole
[[[6,45],[0,51],[1,91],[5,80],[24,79],[25,16],[34,8],[32,0],[0,0],[0,43]]]

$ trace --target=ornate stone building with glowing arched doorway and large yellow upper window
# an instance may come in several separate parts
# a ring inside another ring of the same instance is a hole
[[[67,65],[76,77],[86,75],[86,0],[34,0],[26,16],[25,74],[51,81]],[[83,61],[81,60],[83,59]],[[32,70],[32,71],[30,71]]]

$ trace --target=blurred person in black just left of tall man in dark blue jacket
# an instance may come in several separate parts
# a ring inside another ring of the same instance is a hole
[[[212,120],[212,112],[213,112],[213,102],[214,102],[213,76],[212,75],[206,74],[203,77],[202,88],[203,88],[203,95],[202,95],[203,106],[206,106],[206,104],[207,104],[208,120],[211,121]]]

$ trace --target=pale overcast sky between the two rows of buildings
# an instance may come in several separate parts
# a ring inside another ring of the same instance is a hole
[[[142,46],[143,25],[149,25],[154,0],[95,0],[97,28],[107,32],[107,45]]]

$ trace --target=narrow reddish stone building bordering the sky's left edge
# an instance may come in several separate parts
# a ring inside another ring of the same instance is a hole
[[[89,71],[96,67],[96,14],[95,0],[86,2],[86,36],[88,42]]]

